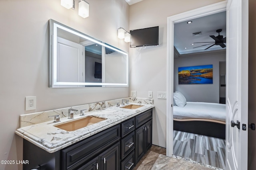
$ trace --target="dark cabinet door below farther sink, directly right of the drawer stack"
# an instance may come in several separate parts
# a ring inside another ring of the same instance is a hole
[[[145,153],[145,125],[139,127],[135,131],[135,162],[136,164],[144,156]]]

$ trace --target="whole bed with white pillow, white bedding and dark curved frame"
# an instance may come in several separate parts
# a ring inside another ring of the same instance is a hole
[[[186,102],[180,93],[174,93],[173,129],[225,139],[225,104]]]

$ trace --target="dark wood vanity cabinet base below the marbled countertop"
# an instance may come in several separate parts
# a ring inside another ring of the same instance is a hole
[[[24,170],[132,170],[152,146],[152,109],[54,153],[24,139]],[[36,156],[35,156],[36,155]]]

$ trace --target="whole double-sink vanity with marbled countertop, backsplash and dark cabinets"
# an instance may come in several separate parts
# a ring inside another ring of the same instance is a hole
[[[154,105],[150,99],[126,98],[129,103],[118,106],[121,100],[21,115],[24,127],[16,134],[24,138],[23,159],[29,161],[23,169],[134,168],[152,145]],[[79,114],[85,107],[87,112]],[[74,112],[73,118],[70,112]],[[53,118],[56,113],[60,121]],[[35,123],[38,117],[52,120]],[[32,125],[24,124],[28,119]]]

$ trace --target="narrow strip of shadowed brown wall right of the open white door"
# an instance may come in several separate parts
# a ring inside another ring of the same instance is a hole
[[[256,1],[249,0],[248,124],[256,124]],[[248,129],[248,170],[256,167],[256,131]]]

